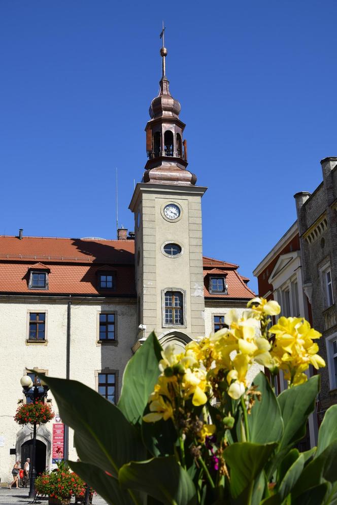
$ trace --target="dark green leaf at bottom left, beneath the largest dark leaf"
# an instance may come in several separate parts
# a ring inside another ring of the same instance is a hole
[[[72,470],[90,484],[91,487],[113,505],[134,505],[128,491],[122,489],[115,477],[107,475],[103,470],[93,464],[69,461]],[[137,499],[137,498],[136,498]],[[139,501],[141,503],[141,501]]]

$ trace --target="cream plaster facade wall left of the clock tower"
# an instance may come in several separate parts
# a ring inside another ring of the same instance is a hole
[[[11,471],[21,459],[21,445],[32,438],[30,425],[20,426],[13,420],[19,399],[24,399],[20,378],[26,369],[44,371],[54,377],[66,376],[66,332],[68,298],[31,301],[29,297],[6,296],[0,298],[2,382],[0,392],[0,477],[2,482],[12,480]],[[117,381],[117,398],[131,347],[136,337],[136,300],[116,299],[96,301],[71,297],[70,378],[97,390],[98,372],[114,371]],[[46,343],[27,344],[29,312],[46,313]],[[109,344],[97,342],[97,315],[100,312],[116,314],[117,341]],[[52,394],[48,398],[53,400]],[[57,413],[57,405],[52,402]],[[46,445],[46,465],[52,467],[52,424],[55,419],[37,429],[37,439]],[[3,438],[1,438],[3,437]],[[10,454],[15,449],[15,455]],[[70,430],[69,457],[76,460],[73,435]]]

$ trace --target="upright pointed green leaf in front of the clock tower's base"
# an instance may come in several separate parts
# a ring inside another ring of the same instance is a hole
[[[118,407],[132,424],[141,422],[149,395],[157,382],[161,351],[162,348],[152,332],[125,367]]]

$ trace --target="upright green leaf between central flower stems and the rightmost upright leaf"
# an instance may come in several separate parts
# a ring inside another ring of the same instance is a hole
[[[253,384],[261,392],[261,400],[255,401],[248,416],[250,442],[278,442],[283,434],[283,421],[275,393],[262,372],[255,377]]]

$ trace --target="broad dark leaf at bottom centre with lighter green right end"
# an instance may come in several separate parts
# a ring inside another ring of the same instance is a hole
[[[119,482],[122,487],[150,494],[164,505],[196,504],[194,484],[174,456],[131,461],[120,469]]]

